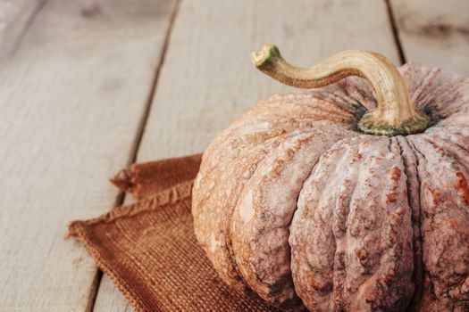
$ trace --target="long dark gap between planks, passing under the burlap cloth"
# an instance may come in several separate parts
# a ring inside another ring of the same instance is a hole
[[[168,46],[169,46],[169,43],[170,43],[170,38],[171,38],[171,33],[172,33],[172,26],[174,24],[174,21],[176,20],[176,16],[177,16],[177,13],[179,11],[179,8],[180,8],[180,0],[176,0],[176,4],[174,5],[174,9],[172,11],[172,15],[171,15],[171,18],[170,18],[168,30],[166,31],[166,36],[164,37],[162,53],[160,55],[160,59],[157,62],[157,65],[156,65],[155,75],[152,78],[152,86],[151,86],[150,92],[148,93],[148,96],[147,96],[147,101],[146,101],[146,104],[145,104],[144,111],[142,113],[142,117],[140,119],[140,122],[138,123],[138,130],[137,130],[137,134],[135,135],[134,143],[132,144],[130,157],[129,157],[129,161],[128,161],[128,166],[135,163],[135,161],[137,160],[138,147],[140,146],[140,143],[142,141],[142,137],[145,133],[145,126],[147,125],[147,120],[148,120],[150,109],[151,109],[151,106],[152,106],[152,103],[153,103],[156,86],[158,85],[158,78],[160,76],[161,68],[163,67],[164,56],[166,55],[166,51],[168,50]],[[126,198],[126,194],[123,193],[123,192],[119,192],[119,194],[116,196],[116,202],[115,202],[114,207],[121,206],[124,203],[125,198]],[[103,271],[101,271],[101,269],[97,268],[96,269],[96,275],[95,275],[95,278],[93,279],[93,282],[92,282],[91,287],[90,287],[89,295],[88,295],[88,304],[87,304],[87,309],[86,309],[87,312],[88,311],[91,312],[95,308],[97,293],[99,291],[99,286],[101,284],[102,277],[103,277]]]

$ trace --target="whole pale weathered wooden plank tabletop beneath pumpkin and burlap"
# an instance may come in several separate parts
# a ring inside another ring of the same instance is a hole
[[[73,219],[130,201],[107,177],[201,152],[265,96],[253,69],[351,48],[469,75],[467,0],[0,0],[0,310],[130,311]]]

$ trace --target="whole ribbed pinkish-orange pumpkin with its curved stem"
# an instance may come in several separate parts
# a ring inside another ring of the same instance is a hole
[[[225,283],[281,308],[469,309],[469,79],[379,53],[309,69],[214,138],[193,188],[197,241]]]

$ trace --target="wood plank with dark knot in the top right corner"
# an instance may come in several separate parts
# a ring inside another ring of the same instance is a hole
[[[390,4],[407,61],[469,75],[469,1]]]

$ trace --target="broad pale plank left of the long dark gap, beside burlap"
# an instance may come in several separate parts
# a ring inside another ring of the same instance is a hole
[[[0,68],[0,302],[83,311],[96,267],[68,222],[116,201],[174,1],[50,0]]]

